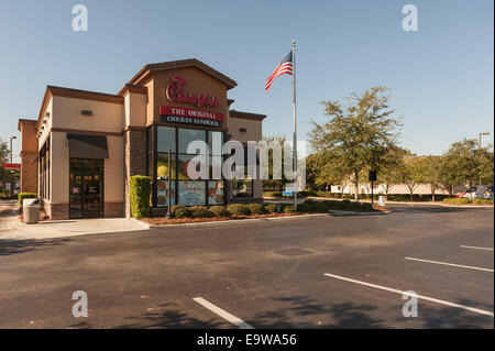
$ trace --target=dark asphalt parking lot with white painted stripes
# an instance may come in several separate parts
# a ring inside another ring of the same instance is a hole
[[[493,328],[493,208],[393,209],[3,240],[0,328]]]

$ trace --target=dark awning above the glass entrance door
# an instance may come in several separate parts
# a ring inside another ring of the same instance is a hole
[[[69,157],[108,158],[107,136],[67,134]]]

